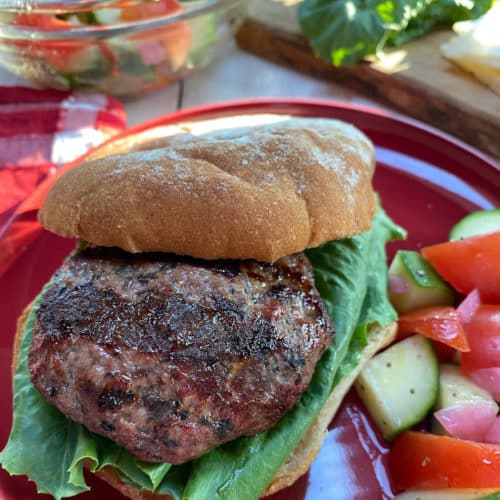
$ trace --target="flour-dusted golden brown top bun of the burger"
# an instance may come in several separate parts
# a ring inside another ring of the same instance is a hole
[[[355,127],[292,118],[183,131],[73,168],[40,222],[129,252],[268,262],[370,228],[374,150]]]

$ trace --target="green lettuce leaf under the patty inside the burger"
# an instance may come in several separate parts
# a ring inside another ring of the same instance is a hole
[[[84,462],[92,471],[110,465],[124,481],[169,493],[176,500],[258,498],[338,380],[359,362],[367,328],[396,318],[387,299],[385,244],[402,237],[404,232],[379,209],[370,231],[307,251],[316,286],[336,327],[335,341],[319,361],[309,388],[273,429],[236,439],[181,466],[136,459],[64,417],[36,391],[27,355],[42,291],[25,325],[14,377],[14,423],[0,463],[10,474],[26,474],[40,493],[57,499],[88,489]]]

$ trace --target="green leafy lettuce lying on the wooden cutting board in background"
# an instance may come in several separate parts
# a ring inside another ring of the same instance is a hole
[[[492,5],[493,0],[304,0],[297,12],[315,52],[341,66],[423,35],[437,23],[475,19]]]

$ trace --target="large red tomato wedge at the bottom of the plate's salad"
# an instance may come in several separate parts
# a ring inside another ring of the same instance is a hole
[[[389,452],[397,488],[500,487],[500,446],[405,431]]]

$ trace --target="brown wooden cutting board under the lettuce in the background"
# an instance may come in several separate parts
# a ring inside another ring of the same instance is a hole
[[[297,0],[253,0],[236,35],[241,48],[345,85],[500,157],[500,96],[441,57],[453,36],[437,31],[388,52],[383,61],[335,68],[300,34]]]

